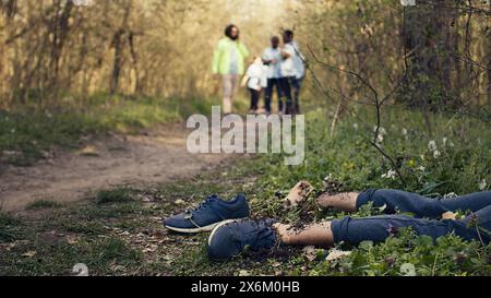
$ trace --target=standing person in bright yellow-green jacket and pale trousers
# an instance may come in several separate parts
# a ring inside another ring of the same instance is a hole
[[[228,115],[232,112],[233,95],[239,76],[244,73],[244,60],[249,57],[249,50],[240,41],[240,31],[236,25],[228,25],[225,36],[218,41],[213,55],[213,73],[221,76],[223,110],[225,115]]]

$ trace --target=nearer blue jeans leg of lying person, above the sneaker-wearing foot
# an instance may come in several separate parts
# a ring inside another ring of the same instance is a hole
[[[476,215],[478,227],[469,225],[469,218],[464,220],[419,219],[400,215],[384,215],[367,218],[345,217],[332,223],[332,230],[336,243],[348,242],[358,245],[362,241],[383,242],[398,228],[411,227],[418,235],[438,239],[455,233],[465,240],[482,240],[490,242],[491,206]],[[479,231],[478,231],[479,230]]]

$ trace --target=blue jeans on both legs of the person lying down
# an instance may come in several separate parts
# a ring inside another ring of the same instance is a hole
[[[372,202],[374,207],[385,206],[387,215],[334,220],[332,229],[336,243],[383,242],[391,234],[403,227],[411,227],[418,235],[427,235],[433,239],[455,233],[466,240],[490,242],[490,191],[436,200],[398,190],[369,190],[358,196],[357,207],[369,202]],[[415,217],[394,215],[396,211],[411,213]],[[456,211],[472,213],[460,220],[438,219],[446,212]]]

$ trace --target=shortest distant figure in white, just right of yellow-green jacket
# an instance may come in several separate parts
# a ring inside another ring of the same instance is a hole
[[[267,70],[263,59],[256,57],[242,80],[242,86],[247,86],[251,94],[250,114],[258,114],[261,92],[267,86]]]

